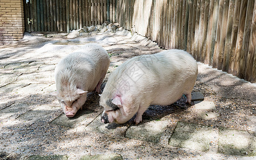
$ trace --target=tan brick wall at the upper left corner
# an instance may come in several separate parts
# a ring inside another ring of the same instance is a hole
[[[23,1],[0,0],[0,45],[19,41],[24,30]]]

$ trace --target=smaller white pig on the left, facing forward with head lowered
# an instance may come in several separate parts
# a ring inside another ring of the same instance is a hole
[[[62,59],[54,70],[56,95],[67,117],[82,109],[87,92],[100,92],[109,67],[109,55],[96,43],[81,46]]]

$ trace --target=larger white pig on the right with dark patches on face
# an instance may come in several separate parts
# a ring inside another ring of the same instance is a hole
[[[140,55],[125,61],[110,74],[100,95],[103,123],[122,124],[134,119],[137,125],[150,105],[171,105],[182,94],[191,102],[197,63],[186,51],[167,50]]]

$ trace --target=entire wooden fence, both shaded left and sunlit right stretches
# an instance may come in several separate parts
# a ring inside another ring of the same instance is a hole
[[[254,0],[24,0],[31,31],[69,31],[118,22],[164,49],[256,82]],[[30,3],[28,3],[30,2]],[[26,28],[29,28],[26,26]]]

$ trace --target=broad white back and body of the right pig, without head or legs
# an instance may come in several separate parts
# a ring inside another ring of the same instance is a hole
[[[196,75],[197,63],[189,53],[167,50],[125,61],[110,74],[111,84],[106,87],[116,86],[119,93],[132,101],[170,105],[194,86]]]

